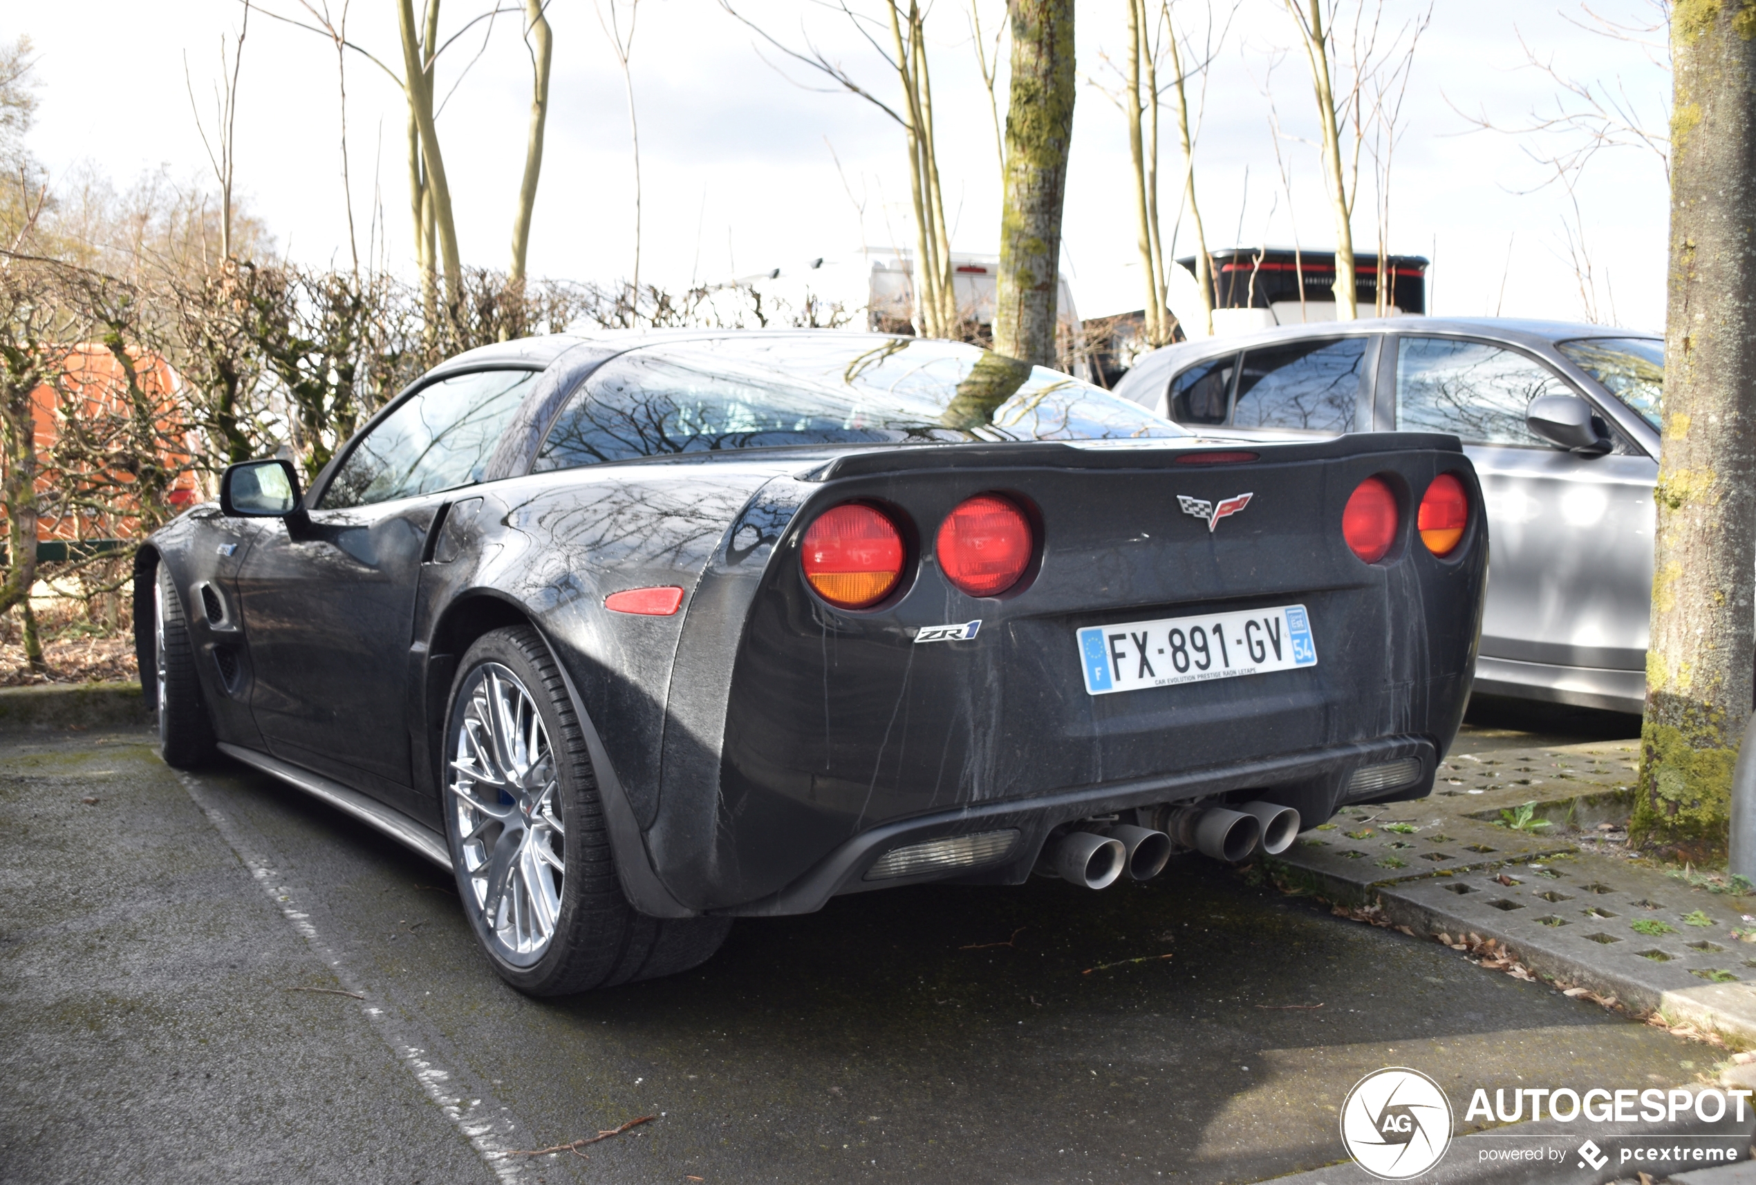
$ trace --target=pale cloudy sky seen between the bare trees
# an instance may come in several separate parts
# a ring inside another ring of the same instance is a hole
[[[446,0],[455,30],[488,0]],[[504,2],[504,0],[502,0]],[[741,7],[776,37],[810,35],[885,100],[894,75],[857,40],[845,18],[808,0],[746,0]],[[297,14],[297,0],[269,0]],[[339,0],[330,0],[339,14]],[[1217,4],[1213,7],[1219,7]],[[1345,5],[1350,7],[1350,5]],[[1003,5],[985,0],[983,23]],[[1199,23],[1208,5],[1178,0]],[[1426,5],[1385,0],[1385,32]],[[1649,0],[1603,0],[1594,12],[1638,25]],[[118,184],[146,170],[200,179],[205,156],[184,86],[184,54],[204,111],[220,68],[220,39],[235,35],[239,0],[91,0],[81,5],[0,0],[0,32],[37,46],[40,116],[32,147],[56,174],[91,162]],[[968,9],[932,9],[932,86],[939,160],[954,219],[954,249],[997,251],[999,167],[987,93],[976,72]],[[1080,98],[1066,205],[1062,267],[1082,316],[1141,304],[1126,126],[1087,79],[1105,83],[1103,54],[1124,42],[1120,0],[1080,0]],[[1573,18],[1573,19],[1568,19]],[[634,260],[632,154],[620,67],[590,0],[553,0],[555,83],[548,153],[537,198],[530,270],[572,279],[625,277]],[[1572,202],[1559,188],[1524,193],[1542,179],[1528,139],[1472,132],[1465,111],[1517,123],[1552,107],[1554,84],[1521,68],[1533,51],[1582,81],[1619,86],[1642,118],[1665,125],[1668,75],[1638,47],[1580,28],[1589,18],[1563,0],[1438,0],[1405,100],[1405,130],[1391,181],[1391,249],[1429,255],[1433,311],[1442,314],[1582,320],[1586,298],[1570,263]],[[467,75],[439,121],[465,262],[504,267],[513,198],[523,162],[530,65],[516,16],[499,18],[443,58],[441,91]],[[801,32],[802,30],[802,32]],[[348,33],[386,61],[397,33],[388,0],[355,0]],[[860,98],[818,93],[804,70],[790,79],[755,53],[753,39],[716,0],[641,0],[634,39],[634,98],[641,128],[644,232],[641,276],[662,284],[720,281],[797,269],[827,256],[843,279],[862,270],[862,246],[906,246],[908,170],[903,132]],[[1278,0],[1241,0],[1206,86],[1196,183],[1212,248],[1263,241],[1331,248],[1303,56],[1289,54],[1291,18]],[[479,54],[478,54],[479,51]],[[769,53],[773,60],[774,54]],[[1270,70],[1271,63],[1278,65]],[[1291,200],[1275,163],[1268,98],[1280,112],[1292,172]],[[1001,95],[1004,104],[1004,93]],[[251,16],[237,114],[237,179],[281,249],[321,263],[348,256],[341,184],[335,53],[323,39]],[[381,226],[383,258],[409,267],[402,95],[385,74],[348,61],[348,147],[362,251]],[[1180,167],[1166,126],[1166,233],[1177,212]],[[836,158],[841,162],[838,172]],[[1370,172],[1370,163],[1363,165]],[[1377,241],[1371,184],[1354,216],[1356,248]],[[374,205],[374,193],[378,204]],[[1593,262],[1600,320],[1661,328],[1666,190],[1658,156],[1600,154],[1577,190]],[[1178,253],[1189,249],[1187,223]],[[825,283],[834,283],[829,279]]]

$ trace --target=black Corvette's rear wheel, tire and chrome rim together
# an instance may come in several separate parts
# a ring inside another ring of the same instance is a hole
[[[458,897],[520,992],[569,995],[688,971],[730,918],[650,918],[622,894],[597,776],[567,685],[529,625],[458,664],[441,797]]]

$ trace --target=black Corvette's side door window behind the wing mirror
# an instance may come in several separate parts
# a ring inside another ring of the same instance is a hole
[[[423,386],[342,462],[323,509],[367,506],[481,481],[534,370],[478,370]]]

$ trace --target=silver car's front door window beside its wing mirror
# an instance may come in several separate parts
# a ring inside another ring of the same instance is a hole
[[[1538,395],[1573,393],[1540,362],[1487,342],[1403,337],[1396,346],[1396,427],[1405,432],[1551,448],[1524,427],[1524,411]]]

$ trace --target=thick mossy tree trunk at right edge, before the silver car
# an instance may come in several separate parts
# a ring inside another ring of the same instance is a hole
[[[1756,585],[1756,5],[1679,4],[1665,430],[1631,837],[1724,851]]]

